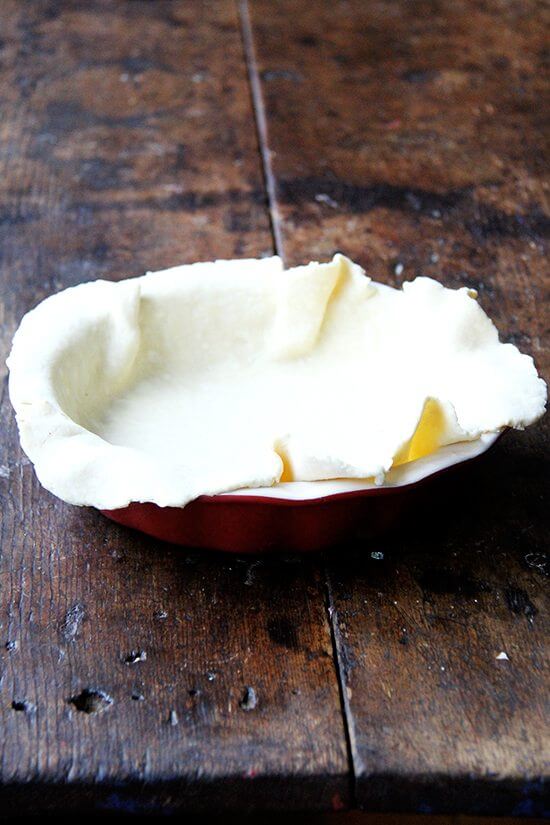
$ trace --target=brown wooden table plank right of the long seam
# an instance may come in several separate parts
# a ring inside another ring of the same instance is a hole
[[[474,286],[548,377],[547,10],[250,11],[286,260],[342,250],[393,285],[425,274]],[[369,810],[542,814],[547,445],[548,424],[508,435],[461,483],[434,487],[400,535],[329,561]]]

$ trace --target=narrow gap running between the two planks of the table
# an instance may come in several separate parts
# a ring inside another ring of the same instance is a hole
[[[256,59],[256,52],[254,49],[254,35],[252,31],[252,23],[250,20],[250,11],[248,5],[248,0],[237,0],[237,8],[241,25],[243,53],[248,77],[248,85],[250,89],[250,98],[252,101],[252,111],[254,114],[254,124],[256,129],[258,152],[261,158],[262,176],[264,180],[265,191],[267,194],[267,208],[269,213],[271,236],[273,239],[273,247],[275,253],[279,255],[284,262],[285,256],[283,246],[283,234],[281,229],[281,217],[277,206],[277,189],[275,183],[275,175],[273,173],[271,154],[268,145],[267,118],[262,95],[260,73],[258,71],[258,62]],[[338,681],[338,692],[340,695],[342,727],[344,729],[344,737],[346,740],[346,753],[349,765],[350,802],[351,808],[353,809],[357,807],[357,781],[355,770],[356,749],[353,747],[352,742],[353,720],[349,707],[346,679],[341,656],[342,638],[340,628],[338,626],[336,608],[334,606],[334,598],[332,593],[332,586],[330,583],[330,576],[326,564],[323,564],[321,569],[323,572],[325,586],[325,611],[330,629],[332,656],[334,661],[334,669],[336,671],[336,679]]]

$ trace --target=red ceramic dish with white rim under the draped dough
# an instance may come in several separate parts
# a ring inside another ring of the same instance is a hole
[[[395,468],[380,487],[362,480],[279,484],[274,488],[201,496],[186,507],[134,502],[102,511],[108,518],[163,541],[230,553],[324,550],[396,526],[422,482],[472,460],[498,435],[455,444]]]

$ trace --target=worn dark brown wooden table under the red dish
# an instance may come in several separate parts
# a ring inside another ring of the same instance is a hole
[[[3,0],[2,365],[63,287],[342,250],[475,287],[548,376],[544,15]],[[391,540],[240,559],[45,492],[0,369],[0,810],[543,812],[544,422]]]

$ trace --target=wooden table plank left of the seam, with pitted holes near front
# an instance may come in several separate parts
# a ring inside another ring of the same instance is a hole
[[[52,291],[271,253],[232,2],[6,0],[1,72],[2,365]],[[318,564],[188,553],[65,506],[0,369],[2,812],[345,805]]]

